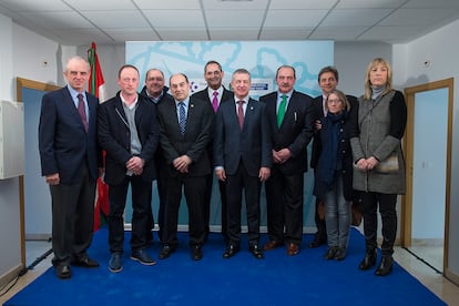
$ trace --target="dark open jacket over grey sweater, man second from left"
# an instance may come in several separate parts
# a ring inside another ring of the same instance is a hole
[[[135,126],[142,151],[139,156],[145,161],[142,178],[153,181],[156,175],[154,153],[157,147],[160,132],[156,120],[156,105],[139,95],[135,110]],[[131,154],[131,133],[124,113],[120,92],[100,106],[99,111],[99,143],[106,151],[105,182],[120,184],[126,174],[126,162]]]

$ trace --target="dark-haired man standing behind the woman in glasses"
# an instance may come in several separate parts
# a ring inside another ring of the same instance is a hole
[[[338,85],[338,70],[334,67],[324,67],[320,69],[317,78],[318,85],[322,89],[322,95],[316,96],[313,101],[313,112],[314,112],[314,121],[319,120],[320,118],[327,114],[326,112],[326,101],[328,94],[336,89]],[[316,136],[313,141],[313,150],[312,150],[312,157],[310,157],[310,167],[316,169],[318,162],[318,143],[319,140],[316,140]],[[314,174],[316,174],[314,172]],[[309,244],[309,247],[319,247],[323,244],[327,243],[327,227],[325,224],[325,212],[320,214],[320,210],[324,211],[325,208],[320,208],[322,198],[316,197],[316,210],[314,214],[314,221],[316,223],[317,232],[314,234],[314,239]]]

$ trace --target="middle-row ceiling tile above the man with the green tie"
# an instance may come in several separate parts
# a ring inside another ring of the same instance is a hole
[[[264,27],[315,27],[327,10],[271,10]]]

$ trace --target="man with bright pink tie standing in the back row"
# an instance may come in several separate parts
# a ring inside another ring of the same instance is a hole
[[[193,94],[193,96],[197,98],[202,101],[207,101],[214,109],[216,113],[218,110],[218,105],[224,103],[227,100],[233,100],[234,94],[232,91],[225,89],[222,85],[223,78],[225,73],[222,69],[222,65],[216,61],[208,61],[204,67],[204,79],[207,82],[207,88],[202,91],[198,91]],[[208,145],[208,154],[211,156],[211,161],[213,160],[213,145],[210,143]],[[206,232],[210,232],[210,217],[211,217],[211,200],[212,200],[212,186],[213,186],[213,178],[214,173],[207,175],[207,194],[206,194],[206,205],[205,205],[205,226]],[[227,242],[227,234],[226,234],[226,192],[225,192],[225,182],[218,181],[220,187],[220,198],[222,202],[222,235]]]

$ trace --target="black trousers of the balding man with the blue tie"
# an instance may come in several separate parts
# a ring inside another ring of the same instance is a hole
[[[184,190],[186,205],[188,208],[190,245],[203,245],[205,238],[204,200],[206,191],[205,176],[177,176],[165,180],[165,205],[163,211],[162,242],[175,247],[177,241],[178,208],[182,201],[182,188]]]

